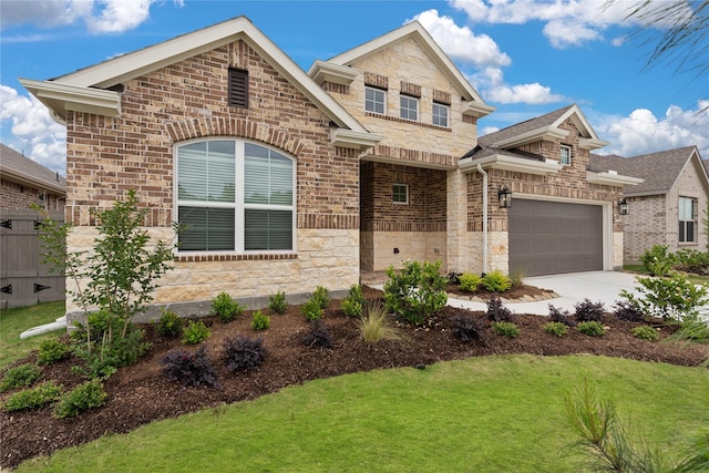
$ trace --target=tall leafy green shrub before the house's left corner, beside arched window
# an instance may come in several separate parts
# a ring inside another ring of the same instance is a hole
[[[134,189],[127,192],[125,199],[114,200],[112,208],[92,210],[99,234],[92,251],[68,251],[65,241],[72,224],[60,224],[43,213],[39,234],[42,263],[73,280],[74,289],[69,294],[83,308],[86,320],[93,308],[111,319],[104,330],[92,327],[89,320],[89,328],[83,331],[84,347],[75,349],[92,374],[114,372],[119,367],[112,366],[112,360],[135,362],[133,354],[145,351],[131,321],[153,300],[160,277],[172,269],[176,247],[176,243],[152,243],[143,227],[148,212],[147,207],[138,207]],[[178,225],[173,227],[181,232]],[[138,347],[126,348],[126,343]],[[116,351],[121,353],[116,356]]]

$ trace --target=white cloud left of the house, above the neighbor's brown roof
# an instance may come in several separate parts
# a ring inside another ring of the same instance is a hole
[[[6,144],[13,145],[41,165],[65,174],[66,130],[49,116],[47,106],[7,85],[0,85],[0,123],[4,128],[9,122],[16,138],[16,143]]]

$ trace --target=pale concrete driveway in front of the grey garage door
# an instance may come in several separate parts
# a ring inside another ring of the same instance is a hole
[[[549,304],[554,307],[574,312],[574,305],[588,298],[593,302],[603,302],[605,310],[613,311],[617,300],[621,300],[620,290],[635,291],[635,275],[616,271],[573,273],[567,275],[534,276],[524,278],[524,284],[542,289],[551,289],[561,297],[538,302],[505,304],[514,313],[535,313],[548,316]],[[636,292],[637,294],[637,292]],[[484,302],[449,299],[449,306],[463,307],[471,310],[487,310]]]

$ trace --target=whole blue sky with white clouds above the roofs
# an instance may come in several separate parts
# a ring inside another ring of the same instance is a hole
[[[64,128],[18,78],[64,75],[238,16],[307,71],[415,19],[496,107],[480,135],[578,103],[610,143],[600,153],[697,145],[709,158],[708,78],[644,69],[651,49],[624,20],[638,1],[0,0],[0,141],[64,173]]]

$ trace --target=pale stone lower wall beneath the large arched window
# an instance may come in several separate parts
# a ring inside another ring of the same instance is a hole
[[[174,238],[169,228],[146,230],[155,239]],[[74,227],[68,250],[90,251],[96,236],[95,227]],[[267,307],[269,296],[277,291],[286,292],[289,304],[300,304],[317,286],[326,287],[332,297],[342,297],[359,282],[358,253],[357,229],[298,229],[298,251],[286,259],[280,254],[273,255],[276,259],[264,254],[264,259],[175,261],[174,269],[161,278],[154,304],[184,317],[208,315],[212,298],[222,291],[249,309]],[[72,290],[76,286],[68,279],[66,287]],[[66,300],[66,316],[70,325],[83,319],[71,297]],[[160,309],[152,307],[135,320],[158,317]]]

